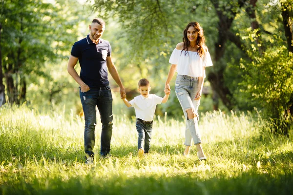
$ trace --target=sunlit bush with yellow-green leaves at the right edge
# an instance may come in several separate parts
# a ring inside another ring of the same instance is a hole
[[[255,106],[264,108],[272,120],[273,129],[285,135],[292,124],[293,114],[292,5],[292,1],[280,1],[266,7],[260,17],[265,19],[269,14],[272,17],[272,12],[276,11],[274,18],[281,21],[278,29],[282,30],[264,34],[253,29],[242,34],[252,50],[248,50],[251,60],[240,63],[246,73],[240,83],[244,87],[243,95]],[[261,38],[268,41],[259,42]]]

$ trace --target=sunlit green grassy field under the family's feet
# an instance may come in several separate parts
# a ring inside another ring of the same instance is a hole
[[[1,195],[288,195],[293,131],[274,135],[257,112],[201,114],[202,144],[186,157],[183,118],[156,117],[150,154],[137,157],[133,119],[114,117],[112,157],[84,164],[84,119],[0,108]],[[101,123],[96,128],[99,154]]]

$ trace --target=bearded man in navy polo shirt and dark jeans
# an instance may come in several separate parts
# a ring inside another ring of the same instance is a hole
[[[109,41],[101,39],[105,31],[105,21],[96,18],[89,25],[90,33],[86,38],[77,41],[72,46],[67,71],[80,85],[80,98],[84,110],[84,151],[86,163],[93,162],[95,146],[96,106],[99,109],[102,133],[102,157],[109,156],[112,137],[112,94],[108,81],[108,71],[120,87],[121,97],[126,96],[124,86],[119,78],[117,69],[111,59]],[[74,69],[79,60],[80,76]]]

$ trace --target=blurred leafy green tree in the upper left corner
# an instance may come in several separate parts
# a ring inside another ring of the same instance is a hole
[[[70,5],[70,6],[69,6]],[[63,58],[77,38],[74,0],[5,0],[2,3],[2,69],[9,103],[25,101],[27,78],[42,76],[45,61]]]

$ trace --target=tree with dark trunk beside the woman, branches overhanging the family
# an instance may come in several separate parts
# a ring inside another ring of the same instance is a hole
[[[227,41],[231,41],[241,50],[243,49],[240,38],[235,36],[230,28],[236,14],[240,12],[240,8],[247,7],[247,4],[248,0],[96,0],[94,7],[99,13],[105,13],[105,18],[108,17],[107,14],[117,16],[127,31],[127,39],[131,42],[130,45],[135,52],[134,60],[143,61],[142,59],[149,59],[149,56],[156,57],[163,53],[164,58],[152,58],[155,59],[152,60],[153,64],[166,62],[167,54],[182,39],[178,39],[178,37],[182,37],[182,31],[187,21],[196,17],[207,32],[207,44],[213,52],[213,61],[216,64],[213,71],[209,72],[208,79],[222,102],[232,109],[234,106],[233,94],[226,86],[224,79],[227,63],[222,58],[226,51]],[[217,28],[213,26],[217,26]],[[212,44],[214,37],[218,37],[218,39]],[[211,48],[211,45],[214,45],[214,48]],[[243,56],[245,56],[244,52]],[[155,67],[157,72],[156,68],[157,66]],[[161,67],[161,69],[165,69],[165,67]]]

